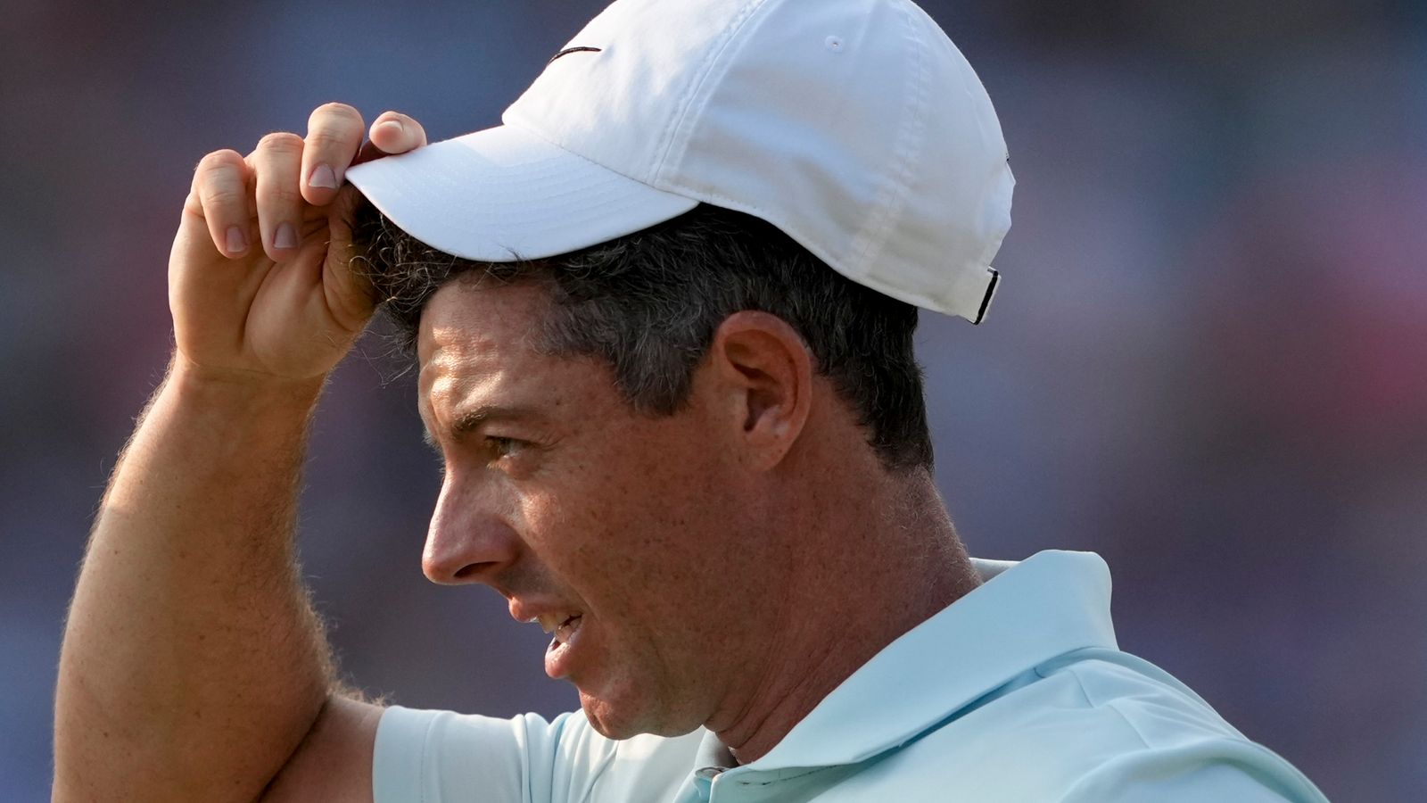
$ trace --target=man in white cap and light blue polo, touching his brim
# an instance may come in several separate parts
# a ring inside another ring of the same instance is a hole
[[[411,153],[351,166],[330,104],[200,163],[173,366],[68,620],[56,799],[1321,800],[1116,649],[1097,557],[958,540],[913,304],[985,316],[1012,179],[919,9],[621,0],[505,123],[425,146],[387,113],[372,147]],[[334,683],[293,509],[374,299],[445,462],[424,570],[551,632],[578,713]]]

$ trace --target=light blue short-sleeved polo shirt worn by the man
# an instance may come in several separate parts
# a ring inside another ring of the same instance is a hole
[[[1326,802],[1159,667],[1116,647],[1092,553],[976,560],[986,580],[888,644],[746,766],[696,730],[388,709],[377,803]]]

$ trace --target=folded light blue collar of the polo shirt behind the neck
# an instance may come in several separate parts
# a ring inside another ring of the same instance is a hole
[[[1050,550],[1019,563],[972,563],[982,586],[883,647],[749,770],[856,763],[1046,660],[1117,649],[1100,556]]]

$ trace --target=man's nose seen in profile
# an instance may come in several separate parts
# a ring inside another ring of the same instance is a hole
[[[447,474],[421,554],[421,572],[428,580],[444,586],[491,583],[517,562],[521,540],[499,516],[491,499],[494,490]]]

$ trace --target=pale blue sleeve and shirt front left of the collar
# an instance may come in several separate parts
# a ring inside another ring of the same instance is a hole
[[[387,709],[372,754],[375,803],[665,800],[689,773],[698,733],[606,739],[582,712],[547,722]]]

